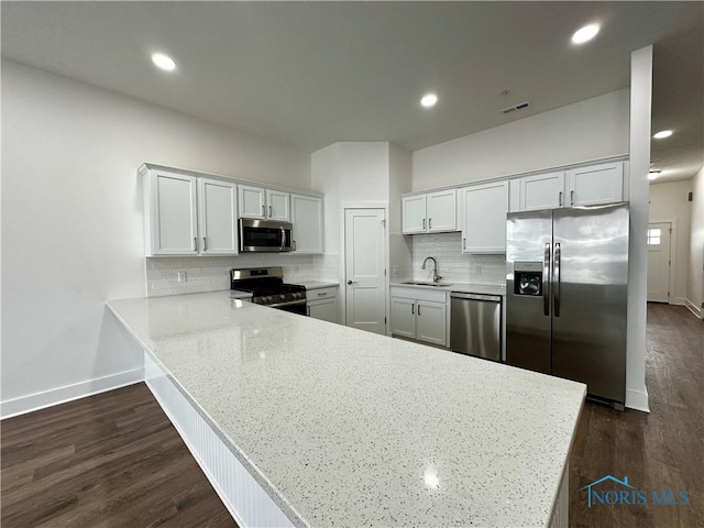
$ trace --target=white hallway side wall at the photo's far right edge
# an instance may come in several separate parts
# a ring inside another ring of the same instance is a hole
[[[692,179],[692,195],[686,301],[704,319],[704,167]]]

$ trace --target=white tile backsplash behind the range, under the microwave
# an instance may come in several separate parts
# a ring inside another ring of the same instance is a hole
[[[251,253],[239,256],[148,257],[146,296],[160,297],[199,292],[230,289],[233,267],[282,266],[284,280],[337,280],[339,255],[292,255],[285,253]],[[178,274],[185,273],[185,282]]]

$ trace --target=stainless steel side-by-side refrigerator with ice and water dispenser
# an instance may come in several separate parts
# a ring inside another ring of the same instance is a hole
[[[508,213],[506,362],[626,400],[628,205]]]

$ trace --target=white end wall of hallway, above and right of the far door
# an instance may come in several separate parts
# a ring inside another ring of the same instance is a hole
[[[670,182],[650,185],[650,211],[648,222],[669,222],[672,226],[670,241],[673,256],[670,266],[670,302],[684,305],[686,298],[688,267],[690,263],[690,209],[688,194],[691,182]]]

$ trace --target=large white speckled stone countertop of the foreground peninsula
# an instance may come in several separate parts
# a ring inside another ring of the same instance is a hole
[[[547,526],[585,386],[232,299],[108,304],[299,526]]]

